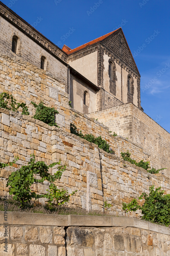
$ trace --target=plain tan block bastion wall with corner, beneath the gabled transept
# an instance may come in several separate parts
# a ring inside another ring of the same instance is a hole
[[[132,103],[88,114],[107,125],[111,131],[135,142],[150,155],[154,168],[167,168],[163,173],[170,175],[170,134],[147,114]]]

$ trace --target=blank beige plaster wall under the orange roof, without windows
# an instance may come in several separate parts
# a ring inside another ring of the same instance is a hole
[[[70,57],[68,57],[69,59]],[[97,51],[90,54],[78,56],[68,60],[68,64],[86,77],[89,81],[97,85]]]

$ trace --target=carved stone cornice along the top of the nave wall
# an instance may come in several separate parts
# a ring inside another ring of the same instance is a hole
[[[67,66],[67,54],[0,2],[0,15]]]

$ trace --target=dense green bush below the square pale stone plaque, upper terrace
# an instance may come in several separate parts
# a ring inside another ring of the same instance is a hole
[[[31,104],[36,108],[35,115],[33,116],[35,119],[38,119],[50,126],[55,125],[59,127],[55,123],[55,114],[58,114],[58,111],[55,108],[44,106],[42,101],[38,105],[31,101]]]

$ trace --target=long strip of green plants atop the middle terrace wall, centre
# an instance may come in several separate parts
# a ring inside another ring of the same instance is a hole
[[[113,153],[112,150],[109,150],[110,145],[107,143],[106,140],[102,140],[101,136],[95,138],[95,136],[93,134],[83,135],[83,133],[81,131],[80,132],[77,131],[77,127],[74,124],[70,124],[70,132],[91,142],[91,143],[98,145],[99,148],[101,148],[102,150],[104,150],[108,153]]]

